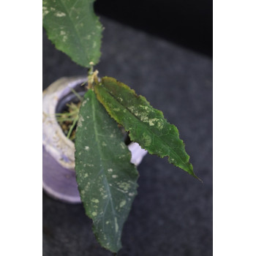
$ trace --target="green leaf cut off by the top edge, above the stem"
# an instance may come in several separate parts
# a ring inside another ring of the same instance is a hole
[[[43,0],[42,25],[57,49],[83,67],[99,61],[102,25],[94,0]]]

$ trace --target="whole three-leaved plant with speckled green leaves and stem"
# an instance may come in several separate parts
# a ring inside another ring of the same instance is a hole
[[[138,170],[130,162],[120,125],[149,154],[167,157],[176,167],[197,176],[178,129],[162,111],[115,78],[98,78],[94,65],[101,56],[103,29],[93,4],[94,0],[43,0],[42,23],[56,48],[88,73],[88,90],[74,120],[76,178],[99,244],[118,252],[138,187]]]

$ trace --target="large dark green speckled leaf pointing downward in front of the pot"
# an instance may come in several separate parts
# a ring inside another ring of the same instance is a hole
[[[76,131],[75,170],[94,234],[111,252],[121,248],[121,231],[137,195],[138,171],[130,159],[118,124],[94,91],[87,91]]]

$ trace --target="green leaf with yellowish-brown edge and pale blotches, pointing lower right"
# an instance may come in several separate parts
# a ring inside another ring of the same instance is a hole
[[[129,131],[131,140],[150,154],[168,157],[170,163],[195,176],[178,129],[166,121],[162,111],[152,108],[145,97],[115,78],[102,78],[94,89],[110,116]]]

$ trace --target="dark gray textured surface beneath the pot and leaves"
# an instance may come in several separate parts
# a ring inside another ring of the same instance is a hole
[[[203,184],[167,159],[147,155],[138,196],[124,225],[124,255],[212,255],[212,61],[101,18],[99,76],[113,76],[145,96],[176,124]],[[86,70],[43,36],[43,86]],[[112,255],[91,231],[82,205],[43,194],[43,255]]]

